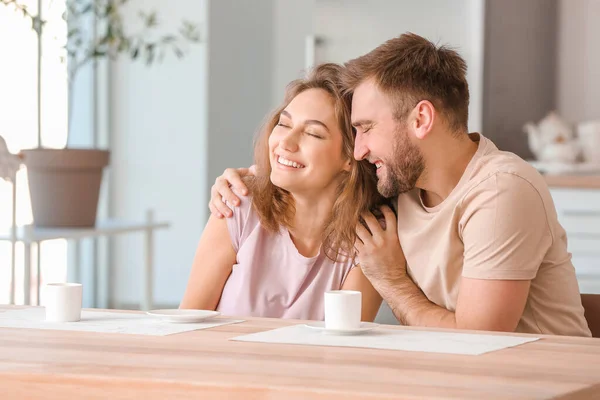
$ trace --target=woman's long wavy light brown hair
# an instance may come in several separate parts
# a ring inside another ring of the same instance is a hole
[[[335,104],[335,114],[342,132],[343,156],[351,160],[351,170],[340,172],[343,177],[323,230],[322,248],[333,261],[340,260],[340,257],[354,258],[356,225],[361,213],[383,202],[383,197],[377,192],[374,167],[366,161],[356,161],[353,157],[354,133],[350,121],[350,104],[342,97],[342,68],[337,64],[321,64],[306,78],[295,80],[287,86],[283,104],[267,119],[255,141],[257,176],[246,179],[252,193],[253,207],[265,229],[276,233],[282,226],[292,228],[294,198],[288,191],[275,186],[270,179],[269,136],[279,122],[281,112],[297,95],[309,89],[326,91]]]

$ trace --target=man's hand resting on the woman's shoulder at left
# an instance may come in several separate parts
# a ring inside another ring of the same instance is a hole
[[[231,187],[238,193],[246,195],[248,188],[242,182],[242,178],[250,175],[256,175],[256,166],[237,169],[227,168],[223,175],[215,179],[215,184],[210,189],[210,202],[208,203],[212,215],[216,218],[231,217],[233,215],[225,201],[234,206],[240,204],[240,199],[233,193]]]

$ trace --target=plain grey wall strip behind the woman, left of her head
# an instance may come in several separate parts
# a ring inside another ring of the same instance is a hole
[[[255,132],[272,107],[273,1],[213,0],[208,15],[212,184],[225,168],[252,163]]]

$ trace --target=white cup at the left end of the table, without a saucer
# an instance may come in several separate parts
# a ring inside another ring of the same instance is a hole
[[[49,283],[44,286],[46,321],[76,322],[81,319],[81,283]]]

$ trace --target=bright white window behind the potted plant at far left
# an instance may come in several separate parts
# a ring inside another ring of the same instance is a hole
[[[38,145],[41,133],[44,147],[63,147],[67,138],[68,82],[63,45],[67,26],[62,19],[66,0],[20,0],[33,15],[41,4],[42,18],[47,21],[41,41],[41,71],[38,73],[38,39],[31,20],[12,6],[0,5],[0,135],[13,153]],[[41,81],[39,80],[41,76]],[[38,82],[41,90],[38,90]],[[38,127],[38,96],[41,103]],[[38,132],[39,131],[39,132]],[[0,229],[7,229],[12,220],[12,186],[0,180]],[[17,224],[32,222],[27,171],[17,176]],[[42,243],[41,271],[44,281],[66,279],[67,243],[54,240]],[[37,249],[33,248],[33,259]],[[0,303],[9,302],[11,244],[0,241]],[[17,304],[23,302],[23,246],[16,249]],[[31,271],[31,281],[37,280]],[[33,289],[33,287],[32,287]],[[32,290],[32,302],[37,301]]]

